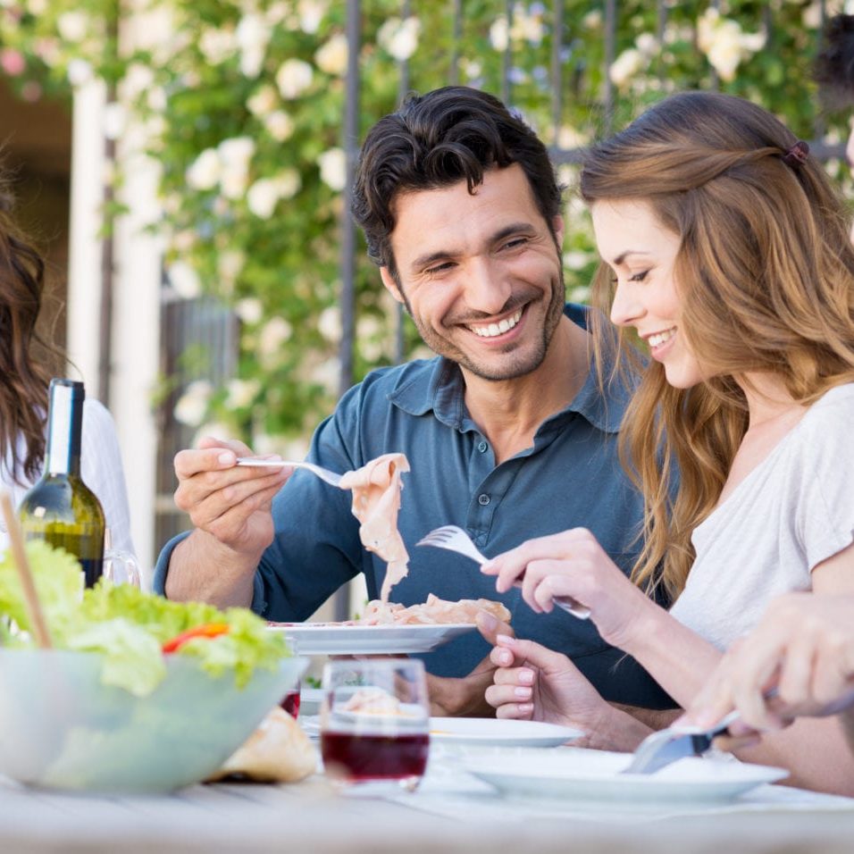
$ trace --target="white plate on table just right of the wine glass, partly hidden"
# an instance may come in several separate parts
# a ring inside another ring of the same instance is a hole
[[[481,747],[557,747],[583,735],[581,730],[541,721],[495,717],[431,717],[430,740]]]

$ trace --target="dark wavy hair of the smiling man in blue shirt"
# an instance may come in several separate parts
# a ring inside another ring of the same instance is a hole
[[[545,145],[522,119],[498,98],[465,86],[409,96],[369,131],[356,170],[351,210],[369,257],[398,279],[390,236],[400,193],[461,180],[473,193],[484,172],[511,163],[523,168],[551,229],[561,190]]]

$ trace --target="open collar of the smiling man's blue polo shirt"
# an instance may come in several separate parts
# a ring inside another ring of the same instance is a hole
[[[568,303],[564,314],[577,326],[587,329],[587,306]],[[599,388],[595,365],[574,400],[549,421],[566,413],[580,414],[594,427],[607,433],[620,429],[630,391],[619,381],[610,381],[610,364],[603,376],[605,392]],[[389,393],[389,402],[411,415],[424,415],[432,411],[436,418],[453,430],[465,429],[468,415],[465,411],[465,384],[459,365],[443,356],[423,363],[423,370],[415,373],[408,382]]]

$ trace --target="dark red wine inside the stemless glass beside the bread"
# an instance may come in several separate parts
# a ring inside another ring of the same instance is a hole
[[[430,736],[321,733],[323,765],[351,780],[420,777],[427,766]]]

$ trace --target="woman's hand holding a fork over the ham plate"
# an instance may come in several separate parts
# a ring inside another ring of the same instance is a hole
[[[557,596],[575,599],[590,608],[602,637],[621,649],[631,644],[638,615],[656,607],[585,528],[527,540],[487,561],[481,572],[496,576],[499,593],[521,582],[523,599],[537,613],[551,611]]]

